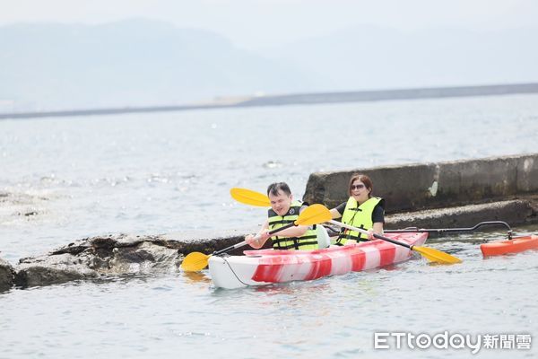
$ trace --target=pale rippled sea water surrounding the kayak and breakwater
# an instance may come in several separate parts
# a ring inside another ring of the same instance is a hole
[[[108,232],[253,227],[264,211],[229,188],[285,180],[302,197],[313,171],[537,153],[536,138],[536,95],[0,121],[0,257]],[[538,254],[483,259],[479,244],[502,236],[427,242],[457,266],[415,258],[262,288],[217,290],[203,272],[15,289],[0,294],[0,357],[371,357],[376,331],[534,336]]]

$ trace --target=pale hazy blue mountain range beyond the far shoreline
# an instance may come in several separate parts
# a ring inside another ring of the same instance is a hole
[[[0,112],[538,81],[536,29],[356,28],[254,53],[143,19],[0,27]]]

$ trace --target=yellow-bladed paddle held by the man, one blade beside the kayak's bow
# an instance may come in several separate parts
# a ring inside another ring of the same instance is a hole
[[[277,232],[281,232],[287,228],[291,228],[296,225],[312,225],[312,224],[317,224],[317,223],[324,223],[330,220],[331,220],[331,212],[325,206],[312,205],[305,208],[305,210],[300,213],[299,218],[297,218],[295,222],[285,225],[281,228],[277,228],[269,233],[274,234]],[[225,253],[230,250],[235,250],[236,248],[239,248],[245,245],[247,245],[247,241],[241,241],[223,250],[217,250],[213,252],[213,254],[204,254],[200,252],[189,253],[187,254],[187,257],[183,259],[183,262],[181,263],[181,268],[183,268],[183,270],[186,272],[197,272],[199,270],[204,269],[204,267],[207,267],[207,261],[209,260],[211,256],[218,256],[219,254]]]

